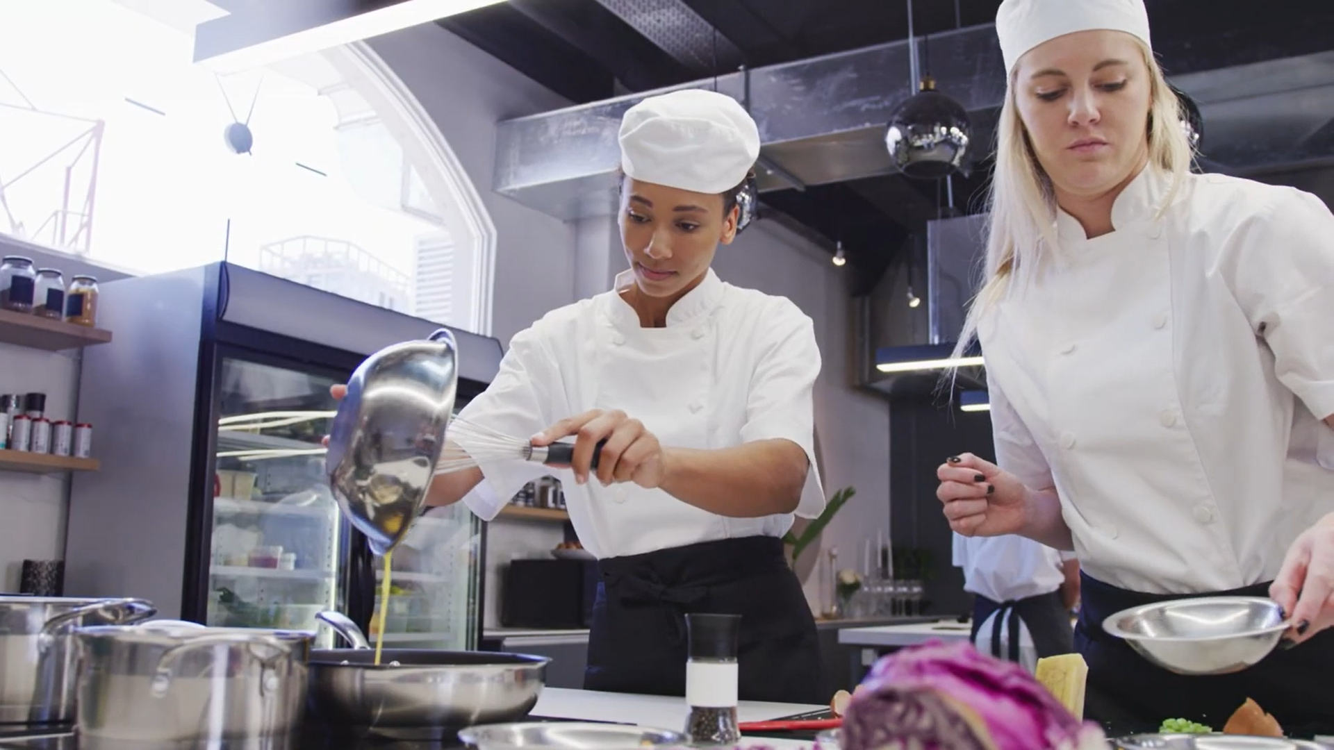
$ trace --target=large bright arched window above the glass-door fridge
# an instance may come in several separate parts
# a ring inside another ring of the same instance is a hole
[[[133,274],[219,259],[479,334],[495,227],[366,44],[217,76],[199,0],[0,3],[0,234]]]

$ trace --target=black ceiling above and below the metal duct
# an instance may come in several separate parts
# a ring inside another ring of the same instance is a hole
[[[1334,3],[1147,3],[1154,47],[1169,75],[1334,49]],[[990,24],[998,5],[916,0],[914,33]],[[643,20],[672,12],[702,19],[696,25],[711,29],[676,40],[672,49],[655,35],[652,21]],[[712,72],[731,72],[738,61],[762,67],[908,37],[907,0],[510,0],[440,25],[580,104],[707,77],[710,71],[691,64],[700,55],[716,61]],[[683,55],[682,44],[694,55]],[[988,176],[991,123],[975,128],[980,137],[974,172],[952,183],[959,210],[979,207]],[[856,294],[879,279],[910,232],[947,212],[944,198],[942,184],[883,176],[767,192],[763,204],[823,234],[830,246],[842,240],[856,271]]]

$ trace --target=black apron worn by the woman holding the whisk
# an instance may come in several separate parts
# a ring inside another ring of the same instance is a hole
[[[586,690],[686,695],[686,614],[742,615],[742,701],[824,705],[819,638],[774,536],[599,560]]]

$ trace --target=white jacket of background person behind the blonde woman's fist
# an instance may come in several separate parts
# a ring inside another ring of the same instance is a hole
[[[963,571],[963,590],[992,602],[1018,602],[1061,589],[1066,582],[1062,563],[1073,558],[1073,552],[1018,534],[954,535],[954,566]]]

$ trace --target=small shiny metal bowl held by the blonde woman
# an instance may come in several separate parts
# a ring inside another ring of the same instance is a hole
[[[1102,623],[1143,658],[1186,675],[1241,671],[1274,650],[1287,630],[1277,602],[1259,597],[1203,597],[1119,611]]]

